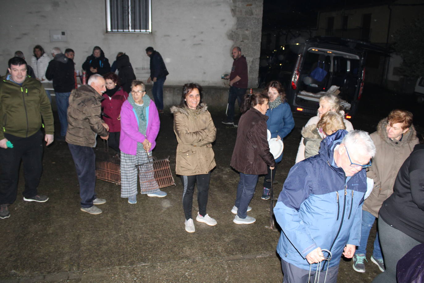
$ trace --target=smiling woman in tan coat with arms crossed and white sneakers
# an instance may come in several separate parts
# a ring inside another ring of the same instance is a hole
[[[181,102],[171,107],[174,114],[174,132],[178,146],[176,174],[183,183],[183,208],[185,230],[195,232],[192,219],[194,185],[197,182],[199,212],[196,221],[215,226],[215,219],[206,214],[211,170],[216,166],[212,143],[216,128],[206,104],[202,103],[202,87],[195,83],[184,84]]]

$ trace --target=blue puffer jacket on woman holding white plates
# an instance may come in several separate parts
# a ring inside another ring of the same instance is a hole
[[[269,117],[266,121],[266,126],[271,132],[271,138],[279,135],[281,140],[283,140],[294,128],[293,114],[287,101],[274,109],[268,109],[265,115]],[[280,162],[282,158],[283,154],[275,162]]]

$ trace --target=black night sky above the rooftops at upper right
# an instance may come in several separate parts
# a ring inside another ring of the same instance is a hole
[[[262,29],[315,28],[318,11],[321,9],[393,2],[394,0],[264,0]]]

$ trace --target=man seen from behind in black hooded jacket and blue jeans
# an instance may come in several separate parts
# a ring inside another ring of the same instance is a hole
[[[65,56],[58,47],[52,49],[52,57],[53,60],[50,61],[46,70],[46,78],[53,80],[61,128],[60,137],[57,139],[64,141],[68,126],[67,109],[69,106],[69,95],[75,88],[75,68],[73,60]]]

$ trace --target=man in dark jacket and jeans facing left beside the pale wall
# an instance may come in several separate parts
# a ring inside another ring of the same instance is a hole
[[[163,113],[163,84],[169,73],[162,56],[153,47],[146,48],[146,54],[150,57],[150,77],[147,82],[153,81],[152,95],[158,112]]]

